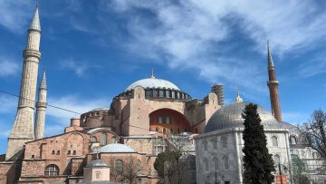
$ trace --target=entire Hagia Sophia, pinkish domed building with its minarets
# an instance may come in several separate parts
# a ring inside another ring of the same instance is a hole
[[[118,183],[120,173],[136,171],[136,182],[161,183],[154,162],[158,153],[173,150],[173,139],[187,140],[187,160],[182,183],[242,183],[245,105],[240,92],[225,104],[222,84],[214,84],[203,99],[192,98],[176,84],[149,78],[131,83],[116,95],[110,107],[99,107],[73,117],[62,134],[43,137],[46,123],[47,85],[43,72],[37,82],[41,59],[41,24],[36,6],[27,32],[20,99],[7,150],[0,156],[0,183]],[[272,53],[267,49],[268,88],[272,112],[258,105],[267,148],[273,155],[274,175],[283,183],[292,180],[292,159],[305,162],[314,181],[321,164],[318,154],[304,146],[300,131],[282,119]],[[37,88],[37,83],[39,86]],[[37,97],[37,99],[36,99]]]

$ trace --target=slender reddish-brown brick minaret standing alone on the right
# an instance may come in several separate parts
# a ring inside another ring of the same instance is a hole
[[[270,91],[273,116],[277,121],[282,121],[281,105],[278,93],[279,82],[276,80],[275,67],[273,65],[272,53],[269,42],[267,42],[268,79],[267,86]]]

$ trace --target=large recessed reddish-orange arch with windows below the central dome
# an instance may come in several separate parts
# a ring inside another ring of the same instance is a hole
[[[185,115],[179,111],[163,108],[152,111],[149,114],[150,131],[158,131],[165,134],[179,134],[193,132],[192,127]]]

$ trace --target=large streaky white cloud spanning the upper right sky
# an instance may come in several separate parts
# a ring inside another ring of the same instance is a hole
[[[248,47],[258,53],[266,52],[267,39],[273,53],[282,54],[310,46],[326,35],[322,23],[326,12],[308,0],[102,1],[101,10],[111,8],[130,15],[129,51],[149,58],[164,57],[170,68],[196,71],[207,82],[227,82],[255,92],[264,91],[262,61],[225,52],[227,46],[222,43],[234,36],[233,29],[250,38],[254,45]],[[139,15],[134,11],[139,8],[153,15]]]

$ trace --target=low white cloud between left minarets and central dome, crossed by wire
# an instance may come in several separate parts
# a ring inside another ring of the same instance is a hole
[[[110,105],[110,98],[96,98],[93,99],[87,99],[87,97],[79,97],[77,95],[69,95],[69,96],[63,96],[63,97],[53,97],[49,98],[48,102],[49,104],[62,108],[64,111],[58,108],[48,107],[46,114],[49,116],[52,116],[53,118],[56,118],[59,123],[62,123],[64,125],[69,124],[69,120],[77,116],[79,117],[79,113],[84,113],[87,111],[91,111],[92,109],[101,108],[101,107],[109,107]],[[74,112],[77,113],[74,113]]]

